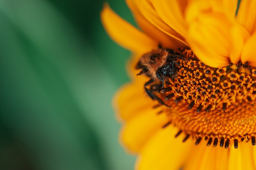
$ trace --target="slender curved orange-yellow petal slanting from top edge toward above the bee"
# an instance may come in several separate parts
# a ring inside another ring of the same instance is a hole
[[[161,17],[157,14],[155,11],[153,5],[148,0],[137,0],[137,5],[144,17],[151,22],[153,25],[155,25],[159,30],[163,31],[167,35],[174,37],[175,39],[178,39],[179,41],[182,41],[184,44],[186,44],[185,38],[177,33],[173,28],[168,26]]]

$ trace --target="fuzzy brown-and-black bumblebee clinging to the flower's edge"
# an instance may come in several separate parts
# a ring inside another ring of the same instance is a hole
[[[177,77],[177,72],[181,68],[180,64],[176,61],[177,59],[186,60],[184,56],[174,50],[159,46],[157,49],[142,55],[136,66],[137,69],[142,69],[137,75],[146,74],[146,76],[150,77],[150,81],[144,84],[148,96],[153,100],[158,100],[162,105],[166,104],[153,92],[164,88],[165,79]],[[147,88],[148,85],[157,79],[162,82],[162,86],[152,85],[150,88]]]

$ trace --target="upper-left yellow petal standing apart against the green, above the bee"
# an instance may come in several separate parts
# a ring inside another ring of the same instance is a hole
[[[101,11],[101,21],[110,37],[128,50],[141,53],[157,46],[157,42],[119,17],[107,4]]]

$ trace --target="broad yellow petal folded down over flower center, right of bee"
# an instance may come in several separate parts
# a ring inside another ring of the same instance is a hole
[[[229,65],[232,46],[229,30],[234,21],[220,12],[221,7],[211,7],[200,2],[190,4],[186,10],[186,20],[189,22],[187,41],[193,52],[206,65]]]

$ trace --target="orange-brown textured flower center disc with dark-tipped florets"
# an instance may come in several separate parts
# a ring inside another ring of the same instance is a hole
[[[252,145],[256,144],[255,68],[247,63],[211,68],[199,61],[191,50],[160,52],[157,59],[150,60],[151,65],[139,63],[144,65],[141,67],[144,71],[139,74],[152,78],[145,89],[152,99],[163,105],[161,114],[166,113],[170,120],[163,127],[170,123],[179,127],[176,136],[185,133],[183,142],[193,137],[195,144],[205,139],[207,146],[213,147],[219,143],[228,148],[232,143],[238,148],[239,142],[249,140]],[[164,52],[167,52],[166,60],[160,58]],[[168,60],[172,55],[175,56]],[[152,65],[155,70],[150,68]],[[172,72],[166,69],[167,65]],[[156,72],[156,76],[151,72]]]

